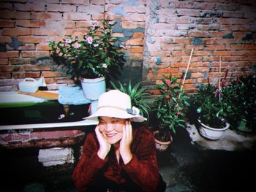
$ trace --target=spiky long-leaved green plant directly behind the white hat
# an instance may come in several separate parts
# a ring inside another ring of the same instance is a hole
[[[140,110],[140,114],[149,119],[149,112],[151,111],[150,103],[150,94],[146,92],[146,88],[142,88],[140,82],[137,82],[132,86],[131,81],[129,84],[122,84],[118,81],[118,85],[115,85],[114,82],[110,81],[110,84],[114,89],[118,89],[123,93],[127,93],[130,96],[132,106],[137,107]]]

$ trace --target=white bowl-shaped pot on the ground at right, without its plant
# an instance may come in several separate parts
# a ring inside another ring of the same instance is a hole
[[[222,137],[222,134],[224,134],[224,132],[227,130],[227,128],[230,127],[230,124],[227,123],[227,121],[226,121],[224,128],[212,128],[212,127],[206,126],[206,124],[202,123],[200,118],[198,118],[197,120],[198,120],[198,123],[200,124],[200,126],[198,128],[199,133],[206,139],[217,140],[220,137]],[[224,119],[221,118],[221,120],[224,120]]]

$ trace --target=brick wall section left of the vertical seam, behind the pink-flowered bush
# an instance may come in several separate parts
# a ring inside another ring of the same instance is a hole
[[[49,90],[72,84],[49,67],[48,41],[84,34],[104,17],[118,22],[115,35],[127,45],[125,72],[141,72],[146,0],[14,0],[1,1],[0,9],[0,91],[17,91],[25,77],[45,77]]]

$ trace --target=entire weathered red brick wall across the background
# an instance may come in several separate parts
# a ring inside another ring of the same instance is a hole
[[[163,74],[182,78],[192,47],[189,93],[218,81],[220,56],[229,81],[255,74],[253,0],[13,0],[0,1],[0,9],[0,91],[17,91],[24,77],[44,76],[50,90],[72,84],[45,59],[48,41],[83,34],[104,17],[118,22],[115,35],[127,45],[121,78],[141,74],[151,93]]]

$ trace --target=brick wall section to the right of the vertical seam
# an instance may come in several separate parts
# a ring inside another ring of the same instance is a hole
[[[195,92],[202,83],[217,83],[255,74],[256,1],[147,1],[144,85],[152,93],[163,74],[182,79],[192,61],[184,88]]]

